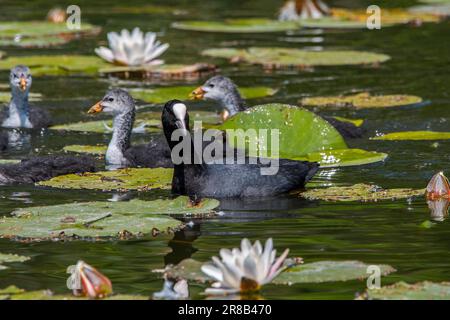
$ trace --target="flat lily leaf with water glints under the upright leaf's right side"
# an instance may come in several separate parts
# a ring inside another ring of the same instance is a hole
[[[294,160],[319,162],[321,168],[349,167],[384,161],[386,153],[362,149],[337,149],[309,153]]]

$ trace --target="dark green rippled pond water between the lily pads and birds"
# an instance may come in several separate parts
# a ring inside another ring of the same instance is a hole
[[[344,117],[364,118],[367,137],[377,132],[405,130],[449,131],[450,97],[450,24],[425,24],[420,28],[398,26],[381,31],[298,31],[294,34],[232,35],[177,31],[170,23],[180,19],[220,19],[225,17],[273,16],[281,1],[127,1],[127,5],[141,3],[176,5],[188,15],[172,14],[107,14],[108,6],[119,1],[78,1],[82,19],[104,27],[96,39],[83,39],[48,50],[6,49],[9,55],[40,53],[93,54],[93,49],[105,39],[105,32],[121,28],[141,27],[163,33],[162,40],[170,42],[165,54],[167,62],[192,63],[208,61],[199,56],[208,47],[233,45],[288,46],[327,49],[358,49],[382,52],[392,60],[378,68],[332,67],[317,68],[313,72],[264,72],[257,66],[218,64],[222,73],[231,76],[239,85],[267,85],[279,88],[275,97],[253,101],[254,104],[277,101],[295,104],[304,96],[334,95],[352,90],[367,90],[374,94],[403,93],[422,96],[430,103],[421,108],[393,108],[391,110],[328,111]],[[333,1],[339,6],[363,7],[373,1]],[[414,1],[379,1],[378,4],[407,6]],[[70,4],[61,2],[61,6]],[[0,20],[41,19],[54,1],[0,2]],[[123,4],[122,4],[123,5]],[[313,42],[319,37],[320,43]],[[6,83],[8,73],[0,73],[0,82]],[[201,82],[201,81],[199,81]],[[183,84],[173,82],[173,84]],[[192,83],[194,86],[197,82]],[[44,95],[37,103],[48,108],[55,122],[66,123],[87,120],[87,108],[98,100],[111,85],[107,79],[82,77],[36,78],[32,91]],[[153,87],[161,83],[142,84]],[[128,85],[131,87],[133,84]],[[208,103],[195,108],[215,107]],[[107,135],[64,134],[45,132],[30,137],[29,143],[17,146],[3,158],[19,158],[30,154],[60,152],[66,144],[97,144],[108,141]],[[136,142],[145,140],[137,136]],[[383,187],[422,188],[439,170],[447,170],[450,160],[450,142],[433,146],[430,141],[376,142],[368,139],[352,141],[351,146],[389,153],[384,163],[369,166],[323,170],[318,179],[330,183],[370,182]],[[448,173],[448,172],[447,172]],[[17,197],[17,192],[22,192]],[[153,199],[167,196],[167,192],[148,192],[136,197]],[[110,193],[92,191],[63,191],[34,186],[0,187],[0,215],[8,215],[15,208],[70,203],[72,201],[105,200]],[[83,259],[98,267],[113,281],[118,293],[150,295],[159,290],[162,281],[151,273],[166,263],[176,263],[192,257],[206,261],[222,247],[234,247],[243,237],[252,240],[273,237],[279,250],[289,247],[293,256],[307,262],[328,259],[361,260],[371,264],[390,264],[398,271],[383,278],[382,284],[399,280],[449,280],[450,225],[437,222],[424,229],[420,224],[430,219],[424,201],[406,201],[376,204],[329,204],[308,202],[292,197],[258,199],[256,201],[226,201],[222,203],[224,216],[197,221],[193,230],[177,234],[174,239],[144,239],[139,241],[88,243],[34,243],[22,244],[0,240],[0,252],[19,253],[32,259],[23,264],[11,264],[0,272],[0,288],[16,284],[25,289],[49,288],[67,292],[66,267]],[[365,288],[363,281],[267,286],[263,296],[268,299],[352,299],[355,292]],[[203,287],[193,284],[194,297]]]

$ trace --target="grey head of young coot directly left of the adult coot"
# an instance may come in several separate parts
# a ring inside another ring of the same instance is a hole
[[[113,115],[134,111],[135,104],[131,95],[123,89],[109,90],[102,100],[92,106],[88,113],[107,112]]]

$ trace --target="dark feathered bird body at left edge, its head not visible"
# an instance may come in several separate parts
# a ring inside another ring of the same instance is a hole
[[[17,164],[0,165],[0,185],[35,183],[59,175],[92,171],[95,171],[95,161],[87,156],[32,157]]]

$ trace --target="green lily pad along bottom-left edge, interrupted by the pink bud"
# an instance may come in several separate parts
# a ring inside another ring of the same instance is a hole
[[[113,294],[102,300],[148,300],[148,297],[128,294]],[[88,300],[71,294],[54,294],[50,290],[25,291],[16,286],[0,289],[0,300]]]

